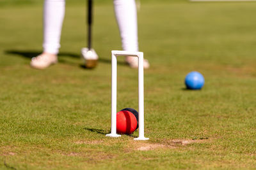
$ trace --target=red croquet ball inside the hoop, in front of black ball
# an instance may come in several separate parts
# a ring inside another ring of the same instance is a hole
[[[116,113],[116,132],[121,134],[132,134],[137,127],[136,117],[127,110]]]

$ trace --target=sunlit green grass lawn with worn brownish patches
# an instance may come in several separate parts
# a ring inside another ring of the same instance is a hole
[[[0,169],[256,168],[256,3],[141,1],[150,140],[133,141],[138,131],[105,137],[111,50],[121,50],[111,1],[95,3],[100,61],[89,70],[84,3],[69,1],[59,63],[29,67],[42,50],[42,4],[29,2],[0,3]],[[202,90],[184,89],[190,71]],[[118,59],[118,110],[138,110],[137,74]]]

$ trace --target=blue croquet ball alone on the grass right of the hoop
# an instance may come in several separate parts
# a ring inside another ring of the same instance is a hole
[[[197,71],[192,71],[185,78],[187,89],[199,90],[204,86],[204,76]]]

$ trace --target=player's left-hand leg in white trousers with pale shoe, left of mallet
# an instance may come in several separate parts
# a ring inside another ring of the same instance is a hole
[[[44,1],[44,51],[32,58],[32,67],[44,69],[57,62],[64,16],[65,0]]]

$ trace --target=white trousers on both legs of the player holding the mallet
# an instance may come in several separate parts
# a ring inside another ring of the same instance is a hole
[[[138,51],[138,25],[135,0],[113,0],[122,48]],[[58,54],[65,0],[44,1],[44,52]]]

